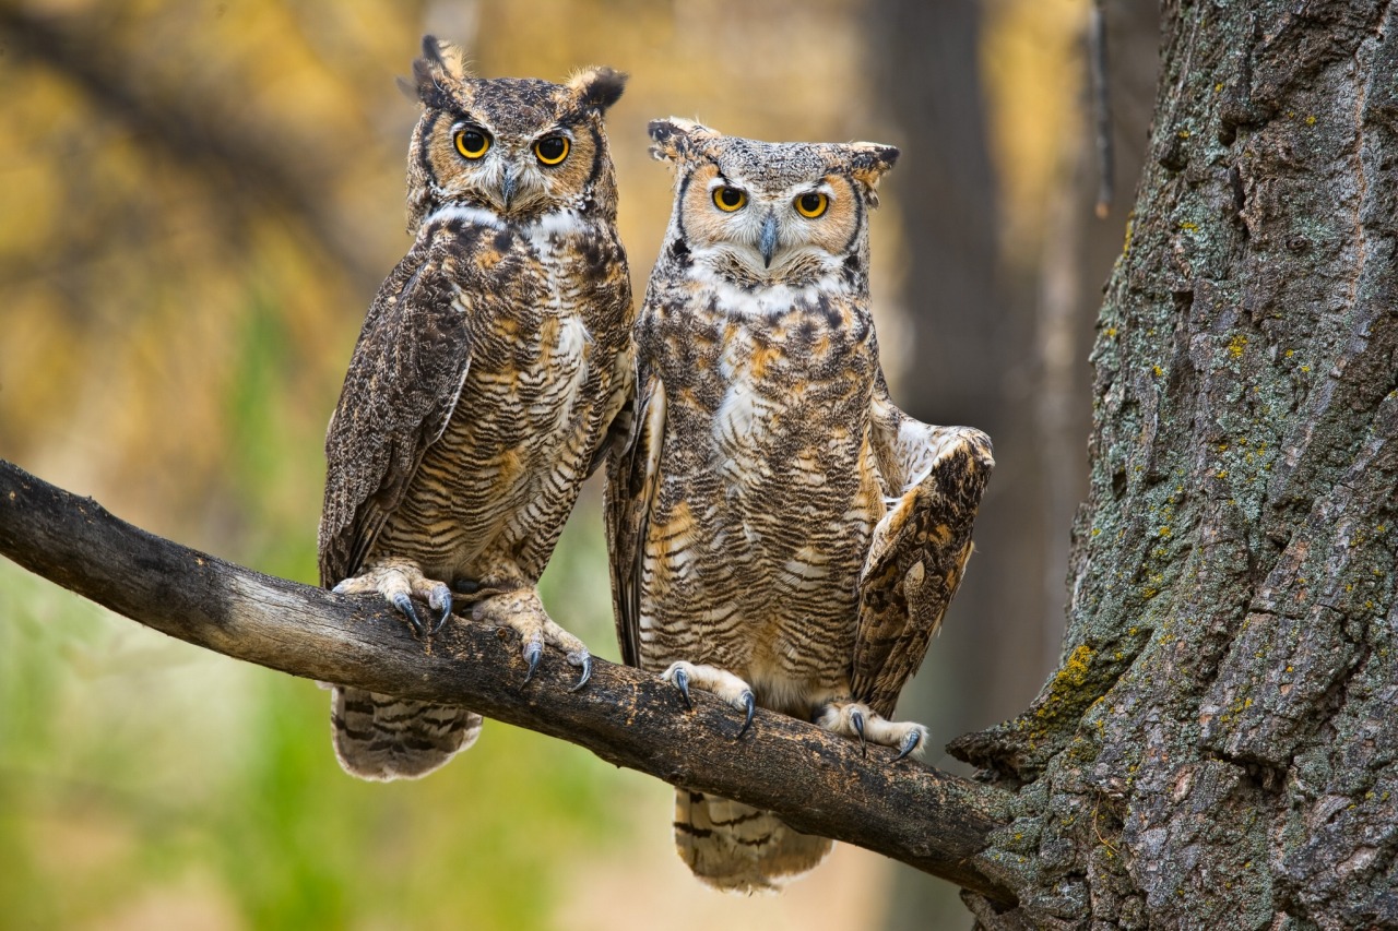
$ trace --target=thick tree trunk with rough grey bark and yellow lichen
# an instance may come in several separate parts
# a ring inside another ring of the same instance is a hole
[[[981,927],[1398,925],[1398,11],[1167,1],[1064,658]]]

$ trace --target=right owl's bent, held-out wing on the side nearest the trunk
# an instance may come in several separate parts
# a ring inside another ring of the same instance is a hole
[[[927,654],[972,552],[972,526],[995,461],[969,426],[930,426],[886,396],[874,443],[889,510],[860,575],[851,691],[884,717]]]

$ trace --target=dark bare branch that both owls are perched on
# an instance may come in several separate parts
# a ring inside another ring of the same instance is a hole
[[[717,699],[686,713],[654,677],[597,661],[589,685],[545,657],[524,686],[514,635],[457,618],[424,644],[377,609],[260,575],[109,514],[0,460],[0,554],[172,637],[312,679],[463,705],[586,746],[674,786],[766,808],[798,830],[900,860],[1012,904],[1011,874],[981,857],[1005,795],[812,724],[759,710],[754,731]],[[327,751],[329,752],[329,751]]]

